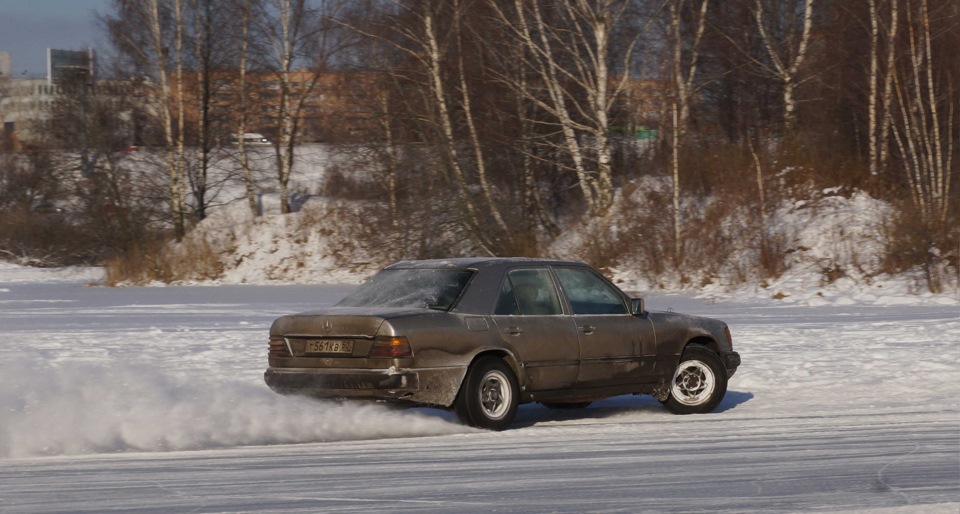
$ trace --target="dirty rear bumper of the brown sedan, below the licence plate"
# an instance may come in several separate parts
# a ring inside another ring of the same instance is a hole
[[[267,368],[263,379],[281,394],[316,398],[391,400],[449,407],[466,368]]]

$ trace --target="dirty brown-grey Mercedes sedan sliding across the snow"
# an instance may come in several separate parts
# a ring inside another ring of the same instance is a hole
[[[337,305],[270,328],[279,393],[452,408],[502,430],[522,403],[651,394],[713,410],[740,365],[722,321],[651,312],[582,262],[467,258],[387,266]]]

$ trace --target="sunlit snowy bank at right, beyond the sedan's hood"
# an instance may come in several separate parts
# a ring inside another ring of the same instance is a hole
[[[683,285],[664,280],[669,290],[684,291],[716,301],[776,300],[803,306],[843,305],[960,305],[956,271],[944,268],[943,294],[930,293],[919,270],[889,275],[882,272],[884,223],[891,215],[886,202],[863,192],[849,197],[822,191],[816,200],[787,200],[770,222],[787,237],[787,270],[757,283],[734,284],[719,277],[707,285]],[[624,289],[652,286],[636,271],[613,270]]]

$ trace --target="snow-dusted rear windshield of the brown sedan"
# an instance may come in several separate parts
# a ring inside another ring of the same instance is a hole
[[[340,300],[339,307],[420,307],[449,310],[472,272],[450,269],[381,270]]]

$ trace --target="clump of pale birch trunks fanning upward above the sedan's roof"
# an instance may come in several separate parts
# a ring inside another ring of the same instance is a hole
[[[629,79],[628,73],[611,74],[611,37],[628,4],[515,0],[509,6],[490,0],[490,6],[526,49],[523,63],[546,95],[529,87],[530,82],[518,83],[515,76],[505,74],[503,80],[554,120],[562,134],[560,148],[570,158],[588,211],[605,215],[613,205],[614,192],[610,111]],[[630,69],[635,41],[626,45],[623,70]]]

